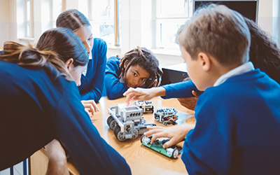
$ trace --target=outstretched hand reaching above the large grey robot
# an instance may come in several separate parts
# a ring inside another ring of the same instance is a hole
[[[140,88],[130,88],[127,92],[123,93],[127,97],[126,103],[130,105],[130,100],[149,100],[157,96],[165,96],[165,88],[163,87],[153,87],[149,89]]]

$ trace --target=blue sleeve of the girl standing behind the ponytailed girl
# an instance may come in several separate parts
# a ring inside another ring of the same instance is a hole
[[[95,51],[95,50],[94,50]],[[97,66],[94,78],[92,78],[92,83],[90,83],[89,90],[85,94],[80,94],[82,100],[93,99],[94,102],[98,102],[102,97],[102,91],[104,87],[104,76],[106,67],[106,55],[107,55],[107,45],[105,41],[101,41],[97,47],[99,55],[97,57]]]

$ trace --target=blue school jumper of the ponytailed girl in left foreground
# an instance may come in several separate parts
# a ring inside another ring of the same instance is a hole
[[[0,170],[60,139],[80,174],[131,174],[125,159],[100,137],[78,87],[53,68],[25,69],[0,61]]]

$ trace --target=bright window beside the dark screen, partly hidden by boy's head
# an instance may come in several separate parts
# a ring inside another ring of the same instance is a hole
[[[176,33],[193,14],[193,0],[156,0],[155,47],[178,48]]]

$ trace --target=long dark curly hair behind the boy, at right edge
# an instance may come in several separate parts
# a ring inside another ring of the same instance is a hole
[[[253,20],[244,19],[251,33],[250,61],[280,83],[280,49]]]

